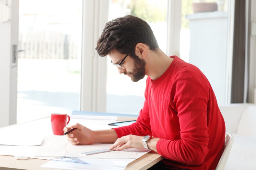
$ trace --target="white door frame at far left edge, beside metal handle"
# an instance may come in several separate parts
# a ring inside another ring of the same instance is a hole
[[[2,22],[0,0],[0,127],[16,123],[17,116],[17,63],[12,63],[12,45],[18,43],[18,1],[7,1],[12,6],[12,19]]]

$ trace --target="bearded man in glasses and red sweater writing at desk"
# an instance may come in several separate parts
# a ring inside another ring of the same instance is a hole
[[[80,124],[64,128],[78,128],[68,134],[68,141],[114,143],[110,149],[116,151],[149,148],[165,158],[164,168],[215,169],[224,149],[225,123],[204,74],[177,56],[165,55],[150,26],[132,15],[108,22],[96,50],[100,56],[109,55],[119,73],[134,82],[148,75],[144,106],[129,126],[102,131]]]

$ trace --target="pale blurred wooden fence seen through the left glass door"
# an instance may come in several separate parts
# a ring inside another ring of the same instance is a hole
[[[19,33],[19,58],[77,59],[77,39],[57,31]]]

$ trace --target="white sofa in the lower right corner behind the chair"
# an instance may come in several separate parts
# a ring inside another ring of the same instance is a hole
[[[219,106],[226,131],[234,137],[225,170],[256,170],[256,105]]]

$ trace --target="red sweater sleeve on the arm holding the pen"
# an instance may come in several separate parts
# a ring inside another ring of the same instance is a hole
[[[143,108],[140,110],[140,114],[136,122],[132,125],[114,128],[114,130],[116,131],[118,138],[126,135],[152,135],[149,120],[148,101],[146,95]]]

